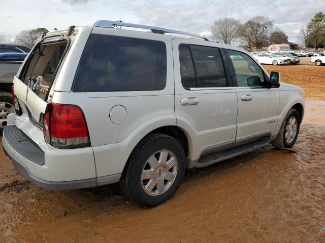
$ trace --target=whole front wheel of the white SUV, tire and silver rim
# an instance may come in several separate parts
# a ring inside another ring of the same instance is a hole
[[[276,148],[291,148],[297,141],[300,129],[300,115],[296,109],[290,109],[281,125],[278,136],[272,145]]]

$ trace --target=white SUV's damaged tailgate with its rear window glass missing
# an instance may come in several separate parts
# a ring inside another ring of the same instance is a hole
[[[69,44],[69,38],[61,35],[44,38],[31,51],[19,76],[14,78],[20,107],[25,106],[29,119],[40,128],[55,75]]]

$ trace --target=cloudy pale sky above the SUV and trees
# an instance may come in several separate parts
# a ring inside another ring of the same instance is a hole
[[[261,15],[283,29],[290,42],[299,44],[302,25],[319,11],[325,12],[325,0],[0,0],[0,35],[14,36],[37,27],[92,25],[105,19],[210,35],[213,21],[219,18],[233,17],[243,23]]]

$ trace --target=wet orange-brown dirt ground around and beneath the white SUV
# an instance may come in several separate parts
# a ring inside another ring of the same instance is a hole
[[[270,145],[189,170],[176,194],[153,209],[126,201],[116,184],[41,189],[17,175],[1,150],[0,241],[325,242],[325,66],[308,60],[266,66],[306,91],[294,151]]]

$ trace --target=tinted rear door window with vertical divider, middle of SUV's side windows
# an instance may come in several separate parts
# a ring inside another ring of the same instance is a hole
[[[182,85],[189,88],[226,87],[226,77],[218,48],[180,45]]]

